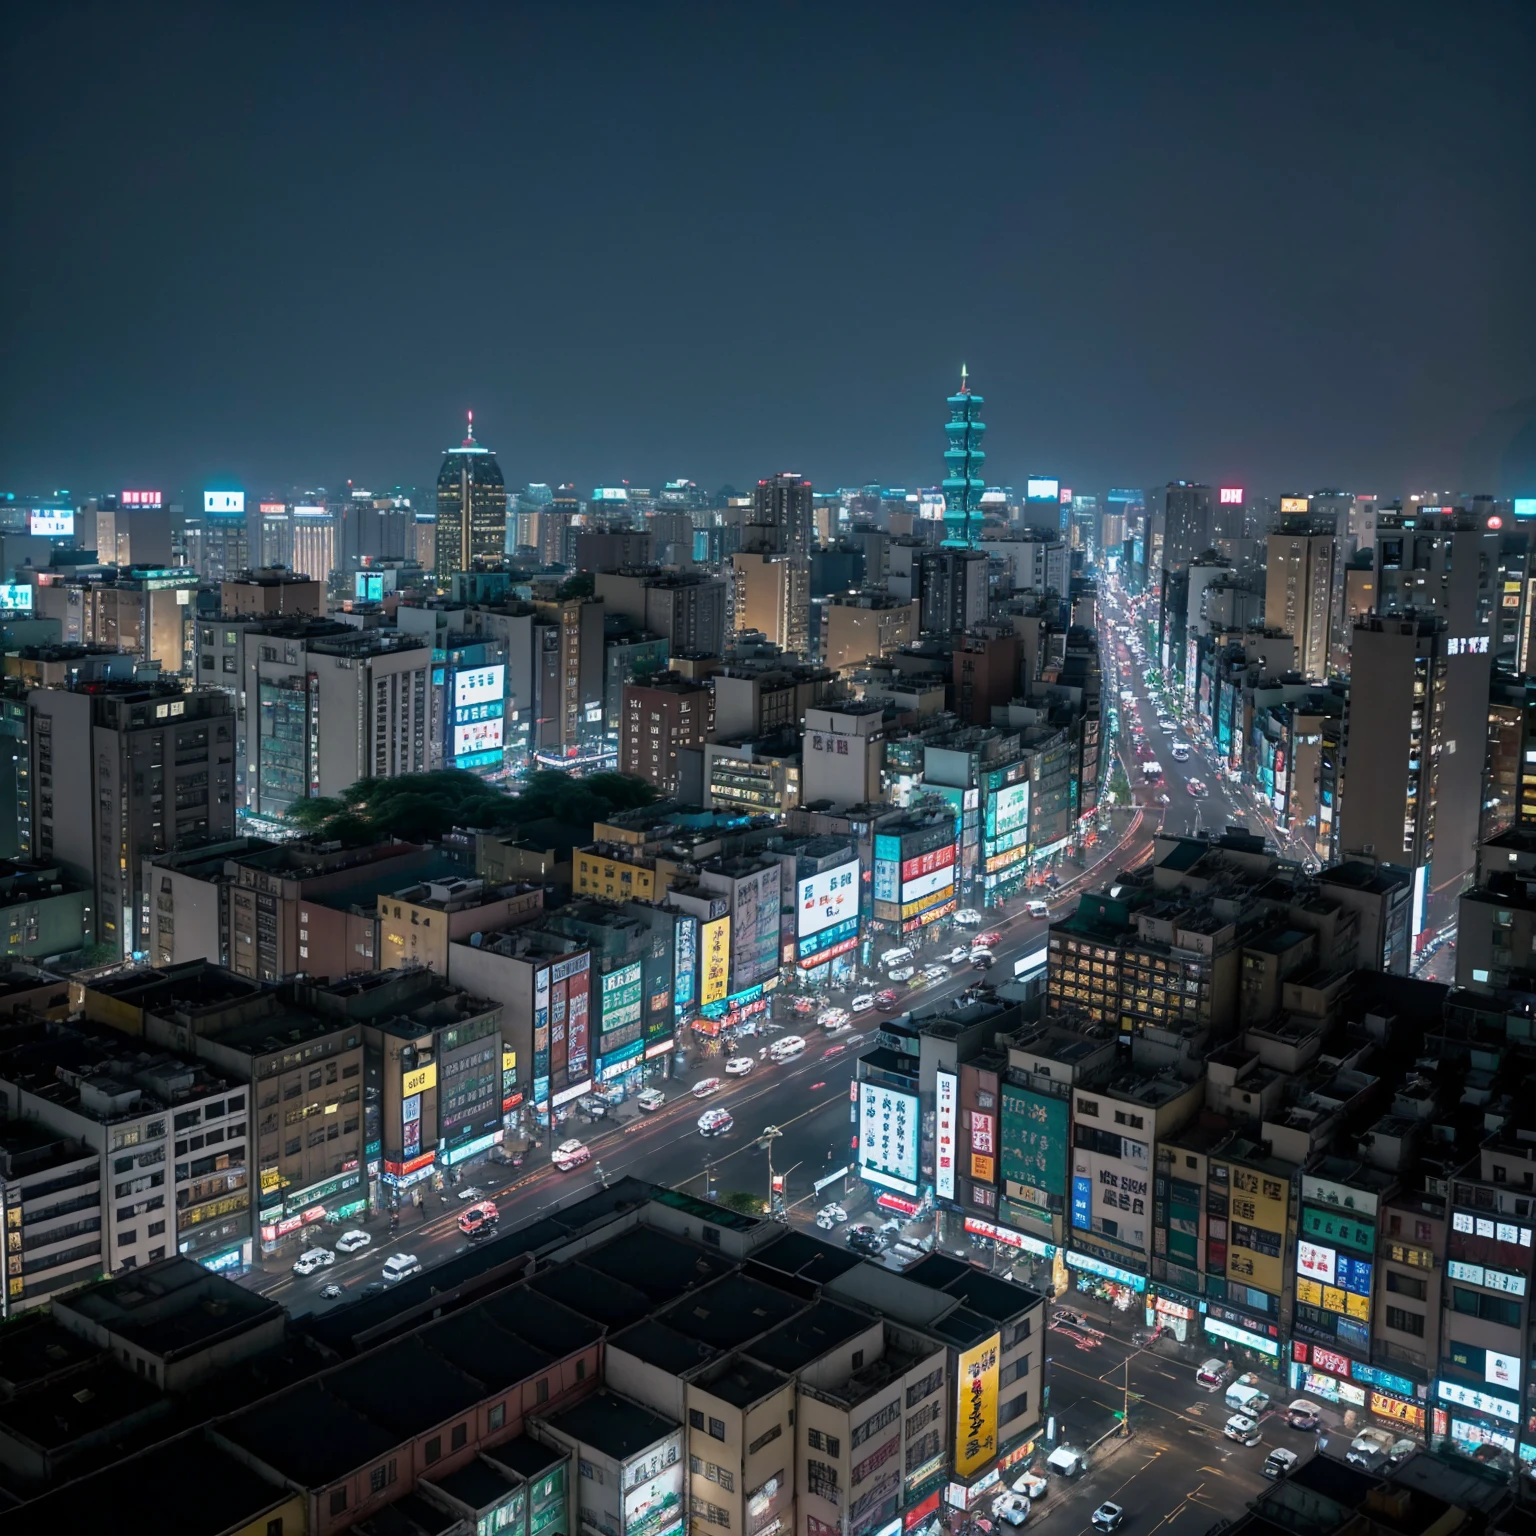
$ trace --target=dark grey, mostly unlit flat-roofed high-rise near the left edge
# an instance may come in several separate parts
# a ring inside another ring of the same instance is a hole
[[[127,958],[149,932],[143,860],[233,834],[233,699],[101,682],[28,708],[34,857],[92,886],[97,938]]]

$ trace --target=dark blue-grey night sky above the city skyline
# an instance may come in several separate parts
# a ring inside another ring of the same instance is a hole
[[[1531,0],[3,26],[0,488],[1536,495]]]

